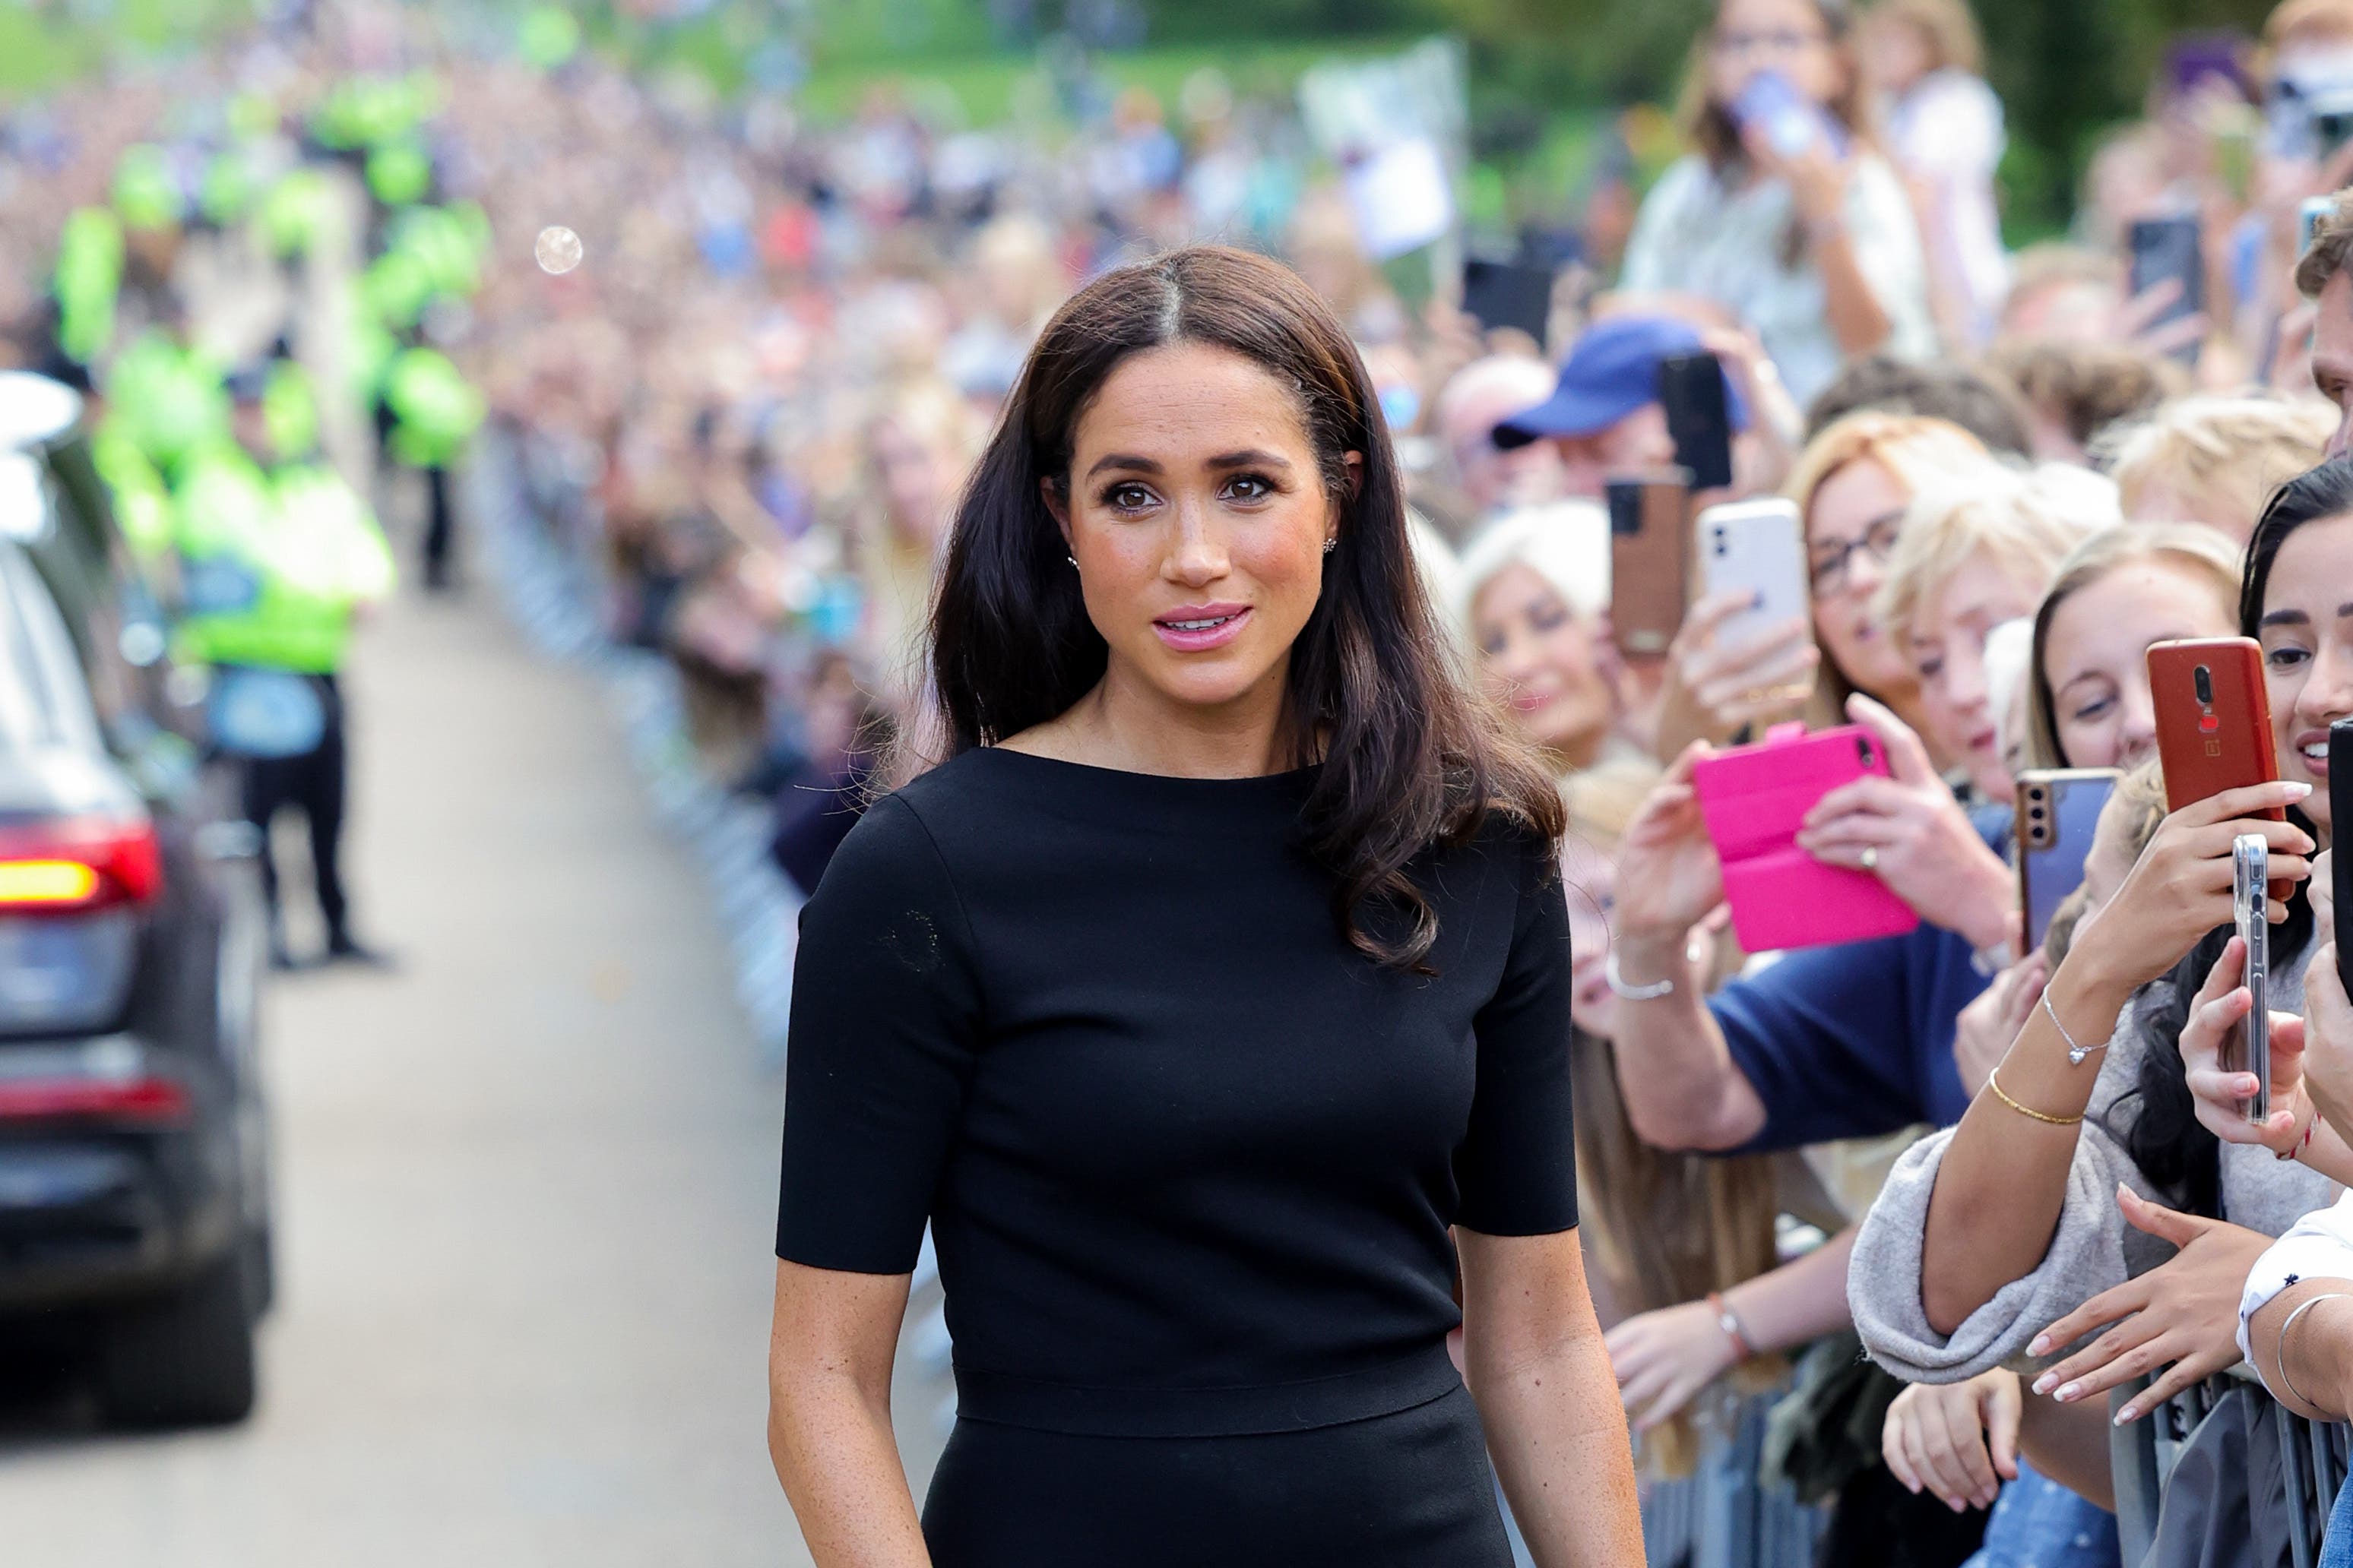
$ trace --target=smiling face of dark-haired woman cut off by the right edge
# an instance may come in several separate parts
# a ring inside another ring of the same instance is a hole
[[[2271,557],[2264,679],[2280,778],[2313,785],[2304,813],[2329,842],[2329,724],[2353,717],[2353,515],[2308,522]]]

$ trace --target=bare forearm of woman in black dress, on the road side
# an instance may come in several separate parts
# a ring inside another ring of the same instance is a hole
[[[929,1568],[889,1425],[908,1274],[776,1260],[767,1453],[816,1568]]]

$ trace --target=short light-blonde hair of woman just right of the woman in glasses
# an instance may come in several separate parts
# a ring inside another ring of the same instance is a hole
[[[1984,555],[2040,590],[2075,545],[2120,522],[2111,480],[2061,463],[2019,473],[1988,458],[1965,482],[1913,501],[1873,609],[1901,649],[1937,583],[1962,564]]]

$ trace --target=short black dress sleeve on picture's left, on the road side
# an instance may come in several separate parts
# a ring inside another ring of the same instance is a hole
[[[979,1034],[962,900],[913,806],[880,799],[800,912],[779,1258],[915,1267]]]

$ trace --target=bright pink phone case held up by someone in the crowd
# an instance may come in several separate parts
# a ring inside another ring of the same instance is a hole
[[[1760,745],[1718,752],[1692,769],[1741,947],[1826,947],[1901,936],[1920,924],[1871,872],[1824,865],[1795,844],[1814,802],[1864,773],[1885,776],[1887,755],[1857,724],[1817,736],[1784,724]]]

